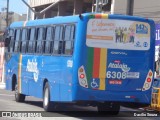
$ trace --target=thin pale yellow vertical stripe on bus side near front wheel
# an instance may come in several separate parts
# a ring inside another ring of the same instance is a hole
[[[22,73],[22,54],[20,54],[19,56],[19,63],[18,63],[18,92],[19,93],[22,93],[21,73]]]

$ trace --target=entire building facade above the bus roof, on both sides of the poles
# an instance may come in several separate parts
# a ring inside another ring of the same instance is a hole
[[[54,4],[39,18],[48,18],[54,16],[75,15],[94,11],[95,0],[29,0],[29,4],[35,11],[39,12],[47,6]],[[108,0],[103,7],[104,12],[111,14],[126,14],[128,0]],[[151,18],[159,21],[160,2],[158,0],[134,0],[133,15]],[[31,19],[35,16],[30,15]]]

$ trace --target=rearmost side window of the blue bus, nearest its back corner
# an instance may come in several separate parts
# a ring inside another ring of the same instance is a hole
[[[72,55],[73,54],[73,47],[74,47],[74,35],[75,34],[75,26],[74,25],[66,25],[65,26],[65,35],[64,35],[64,49],[65,55]]]

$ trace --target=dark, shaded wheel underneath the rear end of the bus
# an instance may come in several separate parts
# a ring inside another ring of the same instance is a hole
[[[104,102],[99,103],[97,108],[99,113],[108,115],[118,115],[120,111],[120,104],[116,102]]]

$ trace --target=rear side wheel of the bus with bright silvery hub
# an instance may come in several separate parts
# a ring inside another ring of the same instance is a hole
[[[46,82],[43,90],[43,108],[45,111],[53,111],[54,106],[53,102],[50,101],[50,87],[48,82]]]

